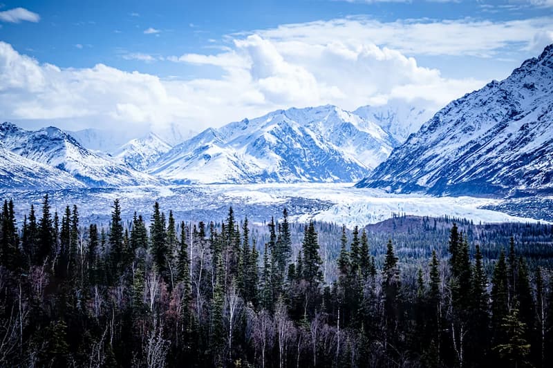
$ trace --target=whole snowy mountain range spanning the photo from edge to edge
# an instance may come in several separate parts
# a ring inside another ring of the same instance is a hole
[[[359,181],[359,188],[395,193],[552,193],[552,86],[553,45],[433,116],[398,101],[353,112],[290,108],[188,139],[187,129],[170,124],[162,136],[125,144],[95,129],[24,130],[6,122],[0,186]]]

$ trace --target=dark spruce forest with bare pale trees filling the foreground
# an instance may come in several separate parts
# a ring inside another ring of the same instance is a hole
[[[0,217],[1,367],[551,367],[553,226]],[[416,224],[416,226],[414,225]],[[323,249],[324,248],[324,249]]]

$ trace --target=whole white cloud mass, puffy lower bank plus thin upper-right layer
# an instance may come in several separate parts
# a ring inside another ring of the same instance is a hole
[[[212,55],[121,55],[221,69],[216,77],[187,80],[103,64],[58,68],[0,42],[0,116],[71,129],[79,123],[200,130],[291,106],[353,110],[402,99],[437,109],[487,81],[444,77],[421,66],[417,55],[490,57],[514,46],[535,55],[553,40],[547,22],[335,19],[231,35],[229,46]]]

